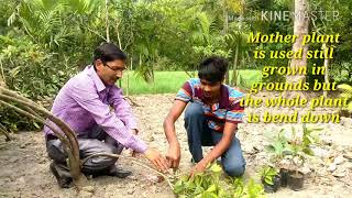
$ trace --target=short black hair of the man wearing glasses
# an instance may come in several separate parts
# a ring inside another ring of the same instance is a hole
[[[117,59],[125,61],[127,55],[113,43],[102,43],[95,50],[94,63],[100,59],[102,63]]]

